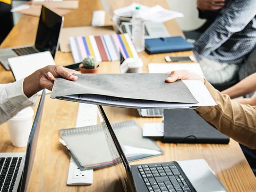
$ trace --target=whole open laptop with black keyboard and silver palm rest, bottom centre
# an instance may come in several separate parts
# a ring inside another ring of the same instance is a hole
[[[228,192],[202,159],[130,165],[103,107],[98,109],[124,192]]]

